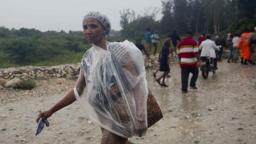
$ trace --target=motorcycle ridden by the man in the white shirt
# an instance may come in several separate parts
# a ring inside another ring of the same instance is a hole
[[[210,57],[201,57],[202,63],[201,63],[201,71],[203,78],[207,79],[209,72],[216,72],[216,69],[213,65],[213,59]]]

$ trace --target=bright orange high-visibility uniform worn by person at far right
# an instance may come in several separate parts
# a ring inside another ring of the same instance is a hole
[[[243,33],[238,43],[238,48],[241,48],[240,57],[247,60],[251,59],[249,36],[250,36],[250,33]]]

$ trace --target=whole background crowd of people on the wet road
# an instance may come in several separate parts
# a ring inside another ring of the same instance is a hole
[[[198,37],[198,45],[197,42],[192,39],[193,36],[194,35],[191,31],[187,31],[186,37],[183,40],[180,40],[179,35],[174,30],[172,34],[168,35],[169,38],[165,39],[164,46],[159,54],[160,67],[158,70],[153,72],[154,78],[156,78],[156,73],[158,71],[164,72],[160,77],[155,79],[159,85],[165,87],[168,86],[165,83],[165,78],[170,72],[168,58],[172,51],[180,57],[182,93],[187,92],[189,73],[193,74],[190,81],[190,88],[194,90],[197,89],[196,81],[198,77],[198,67],[200,67],[201,61],[204,61],[203,58],[212,58],[214,69],[218,69],[217,63],[218,61],[222,61],[222,55],[225,47],[230,50],[228,63],[237,63],[240,56],[242,64],[247,65],[247,62],[249,62],[252,65],[255,65],[256,27],[255,30],[250,33],[247,31],[241,36],[239,33],[236,33],[235,36],[233,36],[232,33],[228,33],[226,40],[224,39],[223,33],[219,33],[214,38],[212,38],[211,34],[205,35],[205,33],[202,33]],[[154,45],[153,54],[156,54],[158,40],[161,41],[157,32],[155,31],[151,35],[150,28],[148,28],[145,33],[146,51],[144,50],[147,55],[149,55],[149,52],[151,51],[152,44]],[[177,46],[178,41],[180,42]],[[173,47],[170,48],[171,45],[173,45]],[[140,48],[140,46],[137,47]]]

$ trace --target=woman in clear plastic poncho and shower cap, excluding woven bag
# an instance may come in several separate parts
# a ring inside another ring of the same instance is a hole
[[[51,109],[40,112],[37,122],[77,100],[90,120],[100,125],[101,144],[132,143],[129,137],[147,132],[149,92],[142,53],[127,40],[105,41],[111,25],[100,12],[87,13],[82,26],[92,47],[82,58],[77,84]]]

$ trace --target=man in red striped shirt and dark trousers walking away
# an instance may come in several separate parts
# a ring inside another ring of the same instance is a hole
[[[177,48],[177,54],[180,57],[182,93],[187,93],[189,73],[193,74],[190,80],[190,89],[197,90],[196,81],[199,73],[200,58],[197,42],[192,37],[193,33],[187,31],[186,37],[180,41]]]

